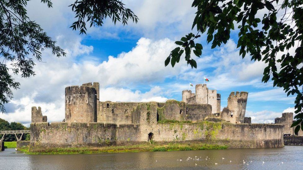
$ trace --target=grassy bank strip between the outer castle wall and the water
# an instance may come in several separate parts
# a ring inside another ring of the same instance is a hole
[[[123,146],[102,146],[102,147],[62,147],[45,148],[32,147],[20,148],[27,154],[92,154],[92,153],[117,153],[117,152],[149,152],[149,151],[173,151],[173,150],[206,150],[206,149],[227,149],[226,145],[206,144],[201,142],[193,143],[140,143]]]

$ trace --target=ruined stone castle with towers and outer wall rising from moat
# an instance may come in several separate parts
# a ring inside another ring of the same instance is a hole
[[[64,122],[45,122],[41,108],[32,107],[30,143],[62,147],[210,139],[238,141],[246,148],[284,146],[283,125],[252,124],[245,117],[247,96],[231,92],[220,111],[220,94],[206,84],[196,85],[195,94],[183,90],[181,102],[100,102],[99,83],[69,86]]]

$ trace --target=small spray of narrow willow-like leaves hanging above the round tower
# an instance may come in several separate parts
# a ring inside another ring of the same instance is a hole
[[[70,5],[72,11],[75,12],[75,21],[70,28],[80,30],[80,34],[86,34],[86,22],[89,22],[89,27],[102,26],[103,21],[110,17],[113,23],[117,21],[127,24],[129,19],[133,22],[138,22],[138,17],[119,0],[76,0]]]

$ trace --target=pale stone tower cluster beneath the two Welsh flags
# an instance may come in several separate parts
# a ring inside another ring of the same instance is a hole
[[[182,101],[187,104],[210,104],[211,113],[219,113],[221,105],[221,95],[217,94],[217,90],[210,90],[206,84],[196,85],[196,94],[191,90],[182,91]]]

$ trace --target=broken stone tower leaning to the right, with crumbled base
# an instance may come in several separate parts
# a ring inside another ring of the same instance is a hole
[[[227,107],[221,113],[221,119],[231,123],[244,123],[248,92],[231,92],[227,99]]]

